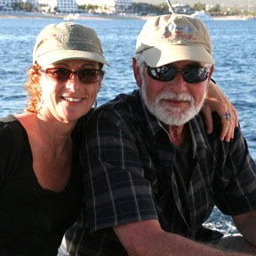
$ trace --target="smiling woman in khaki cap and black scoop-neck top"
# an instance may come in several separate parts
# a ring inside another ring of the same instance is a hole
[[[77,138],[100,91],[103,64],[92,28],[52,24],[37,37],[28,106],[0,122],[0,255],[56,255],[76,220]]]

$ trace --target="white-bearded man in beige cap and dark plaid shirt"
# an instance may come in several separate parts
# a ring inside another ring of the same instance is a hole
[[[146,22],[133,59],[140,90],[100,107],[88,125],[86,209],[66,235],[68,255],[256,252],[256,166],[239,128],[229,143],[219,140],[220,118],[230,114],[214,113],[208,134],[200,111],[211,53],[201,20],[172,14]],[[203,227],[214,204],[243,237]]]

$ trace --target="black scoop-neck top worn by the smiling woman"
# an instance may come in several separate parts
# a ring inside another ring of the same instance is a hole
[[[81,203],[77,126],[72,133],[72,172],[67,187],[57,193],[38,184],[24,127],[13,116],[0,120],[0,255],[57,255]]]

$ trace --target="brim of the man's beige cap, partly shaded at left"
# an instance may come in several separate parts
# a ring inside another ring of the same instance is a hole
[[[156,68],[180,60],[214,64],[212,55],[200,45],[161,45],[143,51],[149,67]]]

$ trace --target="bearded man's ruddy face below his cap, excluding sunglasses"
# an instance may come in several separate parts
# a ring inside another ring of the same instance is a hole
[[[172,63],[172,68],[182,70],[196,64],[205,66],[204,63],[194,61],[178,61]],[[158,81],[148,76],[145,68],[141,76],[142,98],[148,110],[164,124],[185,124],[202,108],[209,79],[201,83],[189,84],[183,80],[179,72],[172,81]]]

